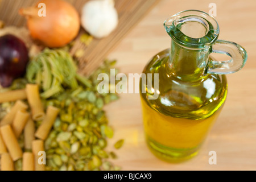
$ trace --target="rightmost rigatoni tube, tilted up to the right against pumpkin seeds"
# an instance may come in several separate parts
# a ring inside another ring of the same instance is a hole
[[[53,106],[49,106],[46,112],[46,118],[44,118],[43,122],[39,126],[38,130],[36,130],[35,136],[45,140],[51,130],[53,123],[57,115],[59,114],[59,109]]]

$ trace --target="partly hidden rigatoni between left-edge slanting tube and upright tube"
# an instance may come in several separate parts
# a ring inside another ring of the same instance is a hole
[[[19,138],[20,134],[22,133],[28,117],[30,117],[30,114],[27,111],[19,110],[14,117],[14,121],[12,123],[13,131],[16,136],[16,138]]]

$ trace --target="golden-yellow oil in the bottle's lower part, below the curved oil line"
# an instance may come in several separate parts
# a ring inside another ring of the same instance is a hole
[[[142,100],[146,141],[151,151],[161,159],[180,162],[195,156],[210,127],[216,121],[217,111],[206,119],[184,119],[152,110]]]

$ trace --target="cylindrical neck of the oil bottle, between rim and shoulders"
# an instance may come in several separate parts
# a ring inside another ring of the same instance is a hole
[[[170,73],[181,80],[198,80],[204,76],[209,53],[209,48],[185,48],[172,40],[169,59]]]

